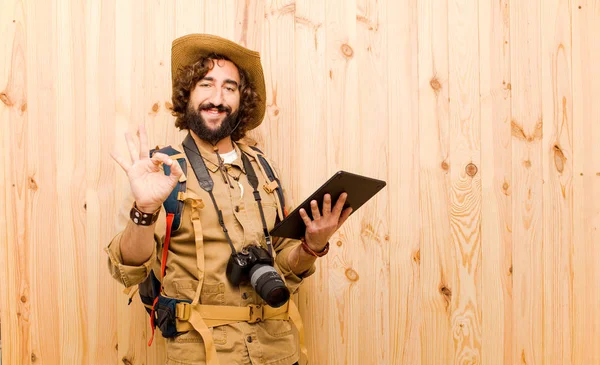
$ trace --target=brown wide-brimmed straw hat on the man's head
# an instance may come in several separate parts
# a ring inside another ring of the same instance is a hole
[[[250,82],[260,96],[260,101],[252,113],[249,129],[254,129],[262,123],[265,115],[267,92],[265,77],[260,63],[260,54],[249,50],[228,39],[211,34],[188,34],[173,41],[171,47],[171,81],[180,67],[190,65],[201,56],[216,53],[229,58],[239,68],[248,73]]]

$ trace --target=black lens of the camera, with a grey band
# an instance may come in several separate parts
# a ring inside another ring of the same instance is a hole
[[[273,266],[254,265],[250,269],[250,283],[271,307],[281,307],[290,299],[290,291]]]

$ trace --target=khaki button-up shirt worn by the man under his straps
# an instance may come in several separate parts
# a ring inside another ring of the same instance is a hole
[[[265,237],[258,205],[254,200],[253,188],[248,182],[241,154],[242,150],[250,154],[249,160],[254,167],[259,180],[258,189],[262,198],[262,206],[271,230],[276,218],[281,215],[276,192],[268,193],[263,186],[268,183],[266,175],[259,167],[256,152],[242,143],[235,143],[234,148],[238,158],[232,164],[227,164],[230,186],[224,182],[218,170],[217,156],[209,145],[198,145],[206,167],[211,175],[213,193],[219,209],[223,212],[225,226],[229,231],[232,242],[239,252],[242,247],[259,242],[263,247]],[[183,152],[180,145],[179,151]],[[187,161],[187,159],[186,159]],[[273,167],[271,161],[269,161]],[[273,167],[276,171],[276,168]],[[277,171],[275,172],[277,174]],[[193,300],[198,287],[199,270],[196,262],[196,245],[192,214],[199,214],[202,225],[204,249],[204,275],[200,292],[200,303],[212,305],[247,306],[264,304],[264,301],[254,291],[250,283],[242,282],[232,286],[226,277],[226,267],[231,255],[231,248],[226,240],[223,229],[217,220],[217,213],[210,195],[200,188],[189,162],[187,162],[187,188],[183,213],[179,229],[171,235],[167,268],[164,278],[164,295],[178,299]],[[288,211],[289,195],[285,194]],[[129,209],[133,203],[130,197],[126,202],[126,211],[122,211],[122,219],[126,224],[133,224],[129,219]],[[166,220],[164,209],[155,224],[154,237],[156,248],[151,258],[140,266],[123,264],[120,252],[120,241],[123,231],[118,233],[106,248],[109,256],[109,269],[115,279],[125,287],[141,283],[154,270],[160,278],[160,260],[162,243],[165,238]],[[294,274],[288,264],[289,253],[300,244],[297,240],[273,239],[276,252],[275,268],[284,278],[291,293],[295,293],[302,279],[314,273],[315,267],[299,277]],[[211,329],[218,358],[221,365],[230,364],[269,364],[291,365],[298,361],[297,343],[290,321],[266,320],[258,323],[237,322],[234,324],[214,327]],[[160,331],[157,331],[157,335]],[[195,330],[175,338],[166,340],[167,364],[204,364],[204,344],[200,334]]]

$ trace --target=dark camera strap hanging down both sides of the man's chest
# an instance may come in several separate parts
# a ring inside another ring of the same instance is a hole
[[[198,179],[198,183],[200,184],[200,187],[210,195],[210,199],[212,200],[213,206],[215,207],[215,210],[217,212],[217,216],[219,217],[219,224],[221,225],[221,228],[223,229],[223,232],[225,233],[225,237],[227,238],[227,242],[229,242],[229,246],[231,247],[231,253],[233,255],[235,255],[237,252],[235,250],[235,246],[233,245],[233,242],[231,242],[231,237],[229,237],[229,232],[227,231],[227,227],[225,226],[225,221],[223,219],[223,212],[219,209],[219,206],[217,205],[217,201],[213,194],[214,182],[213,182],[212,178],[210,177],[208,169],[206,168],[206,164],[204,163],[204,159],[202,158],[202,155],[200,154],[200,151],[198,150],[198,146],[196,145],[194,138],[189,133],[183,140],[183,148],[184,148],[184,151],[185,151],[185,154],[186,154],[188,160],[190,161],[190,165],[192,165],[192,170],[194,170],[194,174],[196,175],[196,178]],[[218,155],[218,152],[217,152],[217,155]],[[244,168],[246,169],[246,177],[248,179],[248,183],[250,183],[250,186],[252,186],[252,188],[254,189],[254,192],[253,192],[254,200],[258,204],[258,210],[260,212],[260,218],[261,218],[262,225],[263,225],[263,234],[265,235],[265,240],[267,243],[267,247],[269,249],[269,255],[273,256],[271,236],[269,235],[269,229],[267,228],[265,214],[264,214],[262,204],[261,204],[260,192],[258,191],[258,178],[256,176],[256,172],[254,171],[254,168],[252,167],[252,164],[250,163],[250,160],[248,159],[248,156],[246,156],[246,154],[244,152],[242,152],[241,158],[242,158],[242,163],[244,164]]]

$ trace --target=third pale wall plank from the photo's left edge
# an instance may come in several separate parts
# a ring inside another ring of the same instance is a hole
[[[56,220],[60,222],[56,225],[57,242],[60,244],[55,248],[57,266],[53,273],[58,284],[58,291],[53,293],[58,307],[52,309],[46,306],[40,314],[60,319],[54,331],[60,342],[72,346],[69,351],[60,351],[56,361],[61,364],[89,363],[88,351],[92,350],[92,354],[95,352],[95,349],[86,348],[90,342],[86,312],[89,309],[95,313],[96,308],[96,301],[86,295],[86,288],[88,285],[94,286],[97,280],[88,283],[85,275],[89,255],[85,240],[86,164],[85,153],[81,153],[81,149],[86,146],[86,123],[82,121],[86,120],[87,112],[91,112],[90,116],[94,112],[88,108],[86,100],[90,95],[81,91],[86,90],[86,84],[90,81],[93,84],[94,81],[87,79],[85,70],[88,58],[82,57],[85,46],[93,43],[86,33],[89,23],[84,6],[84,2],[55,1],[56,23],[52,29],[56,34],[53,44],[57,50],[61,50],[56,53],[54,69],[54,117],[57,123],[52,126],[55,132],[52,144],[56,148],[56,159],[52,163],[56,170],[55,194],[60,202],[56,206]],[[92,117],[92,120],[97,123],[95,118]],[[97,277],[97,274],[93,276]]]

